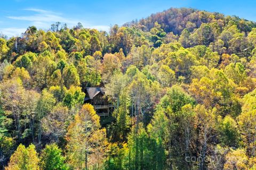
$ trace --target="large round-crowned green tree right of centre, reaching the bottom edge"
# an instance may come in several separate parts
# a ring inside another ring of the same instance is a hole
[[[157,106],[151,125],[151,135],[165,146],[168,167],[189,168],[185,162],[193,152],[195,135],[195,100],[178,87],[172,86]]]

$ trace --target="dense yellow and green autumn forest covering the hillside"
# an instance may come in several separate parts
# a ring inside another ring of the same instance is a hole
[[[0,169],[256,169],[255,22],[191,8],[109,32],[57,22],[2,35],[0,60]]]

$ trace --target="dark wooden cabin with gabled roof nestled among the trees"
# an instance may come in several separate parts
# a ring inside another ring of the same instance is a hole
[[[105,92],[101,87],[87,87],[84,103],[90,103],[99,116],[105,117],[114,111],[114,106],[108,102],[104,95]]]

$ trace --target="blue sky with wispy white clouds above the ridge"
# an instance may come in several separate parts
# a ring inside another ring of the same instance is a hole
[[[256,21],[254,0],[0,0],[0,33],[17,36],[31,25],[47,30],[57,21],[68,27],[81,22],[86,28],[108,30],[110,25],[122,25],[170,7],[193,7]]]

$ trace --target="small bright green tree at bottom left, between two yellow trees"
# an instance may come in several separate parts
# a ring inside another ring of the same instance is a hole
[[[65,164],[65,157],[62,156],[62,150],[52,143],[46,145],[40,155],[40,165],[45,170],[66,170],[69,169]]]

